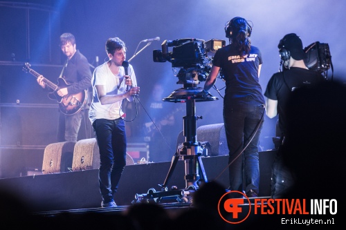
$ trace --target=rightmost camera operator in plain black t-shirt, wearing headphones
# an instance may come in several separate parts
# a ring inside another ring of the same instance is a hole
[[[309,70],[304,63],[306,53],[302,40],[295,33],[285,35],[277,46],[284,69],[275,73],[266,86],[266,115],[269,118],[279,115],[280,144],[277,156],[272,165],[271,196],[282,198],[284,193],[293,185],[293,175],[282,165],[281,151],[287,132],[286,104],[293,90],[309,87],[324,81],[322,74]]]

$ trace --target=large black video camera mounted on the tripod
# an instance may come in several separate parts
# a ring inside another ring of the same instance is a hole
[[[170,61],[172,68],[181,68],[176,74],[177,84],[199,84],[206,81],[212,66],[213,53],[226,41],[211,39],[176,39],[163,41],[162,50],[153,51],[154,62]],[[172,51],[168,47],[172,47]]]

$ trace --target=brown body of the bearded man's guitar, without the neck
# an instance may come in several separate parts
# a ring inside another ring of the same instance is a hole
[[[71,86],[71,84],[67,84],[65,79],[59,77],[57,79],[57,90],[60,88],[66,88],[67,86]],[[48,93],[49,99],[56,100],[59,103],[59,108],[62,113],[65,115],[73,115],[82,110],[84,104],[86,104],[87,99],[87,91],[83,90],[80,93],[65,95],[64,97],[60,97],[57,94],[57,90],[54,90],[52,93]]]

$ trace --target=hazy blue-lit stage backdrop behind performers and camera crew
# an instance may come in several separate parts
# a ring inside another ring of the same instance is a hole
[[[160,37],[160,41],[153,41],[131,60],[141,88],[140,100],[144,105],[154,82],[165,85],[167,96],[182,87],[176,84],[178,79],[172,72],[170,62],[153,61],[153,50],[161,49],[165,40],[183,38],[206,41],[224,39],[228,44],[224,26],[236,16],[253,23],[252,44],[260,48],[264,60],[260,76],[263,91],[268,79],[279,69],[277,44],[284,35],[291,32],[301,37],[303,46],[309,46],[315,41],[329,44],[334,79],[346,82],[343,68],[345,8],[346,2],[343,0],[0,1],[2,149],[8,145],[20,146],[21,150],[26,145],[35,146],[41,149],[37,157],[39,159],[44,146],[54,142],[57,120],[55,104],[46,97],[34,77],[21,71],[21,66],[28,61],[34,70],[55,82],[64,59],[58,46],[63,32],[75,35],[77,48],[89,60],[91,70],[107,59],[104,44],[109,37],[120,37],[125,41],[127,59],[145,46],[146,43],[140,41]],[[331,77],[331,70],[328,75]],[[203,82],[200,86],[203,87]],[[216,86],[223,88],[224,82],[217,79]],[[197,121],[197,127],[223,122],[221,96],[224,95],[224,90],[221,90],[221,95],[215,90],[210,90],[210,93],[219,97],[219,100],[197,103],[197,115],[203,116],[203,119]],[[27,108],[19,106],[20,104],[31,106]],[[183,115],[185,114],[182,113],[181,117]],[[147,115],[138,104],[138,117],[129,126],[136,128],[144,116]],[[276,118],[266,117],[260,140],[262,150],[273,148],[275,122]],[[84,124],[85,128],[82,127],[80,138],[89,135],[87,123],[88,121]],[[181,120],[174,132],[179,133],[182,129]],[[134,131],[131,132],[130,141],[131,137],[138,141]],[[33,162],[33,157],[29,158],[27,162]],[[37,168],[42,162],[38,160],[30,164]]]

